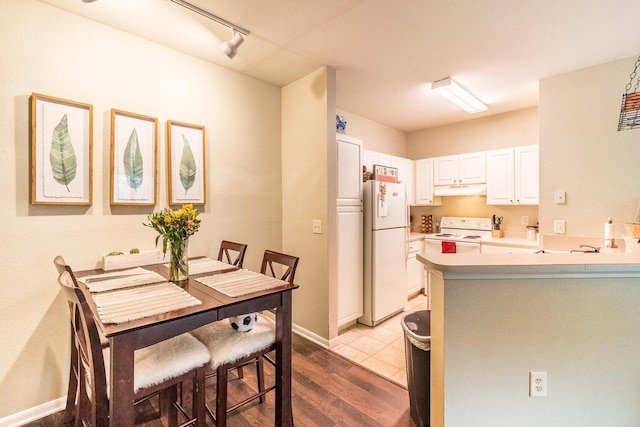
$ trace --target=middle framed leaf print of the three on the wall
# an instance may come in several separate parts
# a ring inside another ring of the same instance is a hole
[[[111,204],[156,204],[158,119],[111,110]]]

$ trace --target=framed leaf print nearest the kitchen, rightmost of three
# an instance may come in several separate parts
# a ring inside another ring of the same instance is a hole
[[[169,204],[205,204],[204,126],[167,121]]]

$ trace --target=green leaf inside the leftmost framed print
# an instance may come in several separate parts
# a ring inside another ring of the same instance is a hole
[[[62,116],[60,122],[58,122],[53,129],[49,162],[51,162],[53,179],[55,179],[58,184],[64,185],[67,191],[71,192],[71,190],[69,190],[69,183],[76,177],[78,163],[76,152],[73,149],[73,145],[71,145],[66,114]]]

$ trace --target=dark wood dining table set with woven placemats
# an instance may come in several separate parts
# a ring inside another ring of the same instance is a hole
[[[291,324],[292,291],[298,286],[287,284],[265,291],[239,297],[229,297],[202,283],[198,277],[211,274],[224,274],[229,270],[203,273],[189,276],[188,280],[176,284],[189,292],[202,304],[174,310],[168,313],[145,317],[126,323],[102,323],[98,315],[92,294],[83,287],[94,311],[94,316],[109,340],[111,354],[109,417],[112,426],[133,426],[135,411],[133,406],[134,351],[163,340],[192,331],[207,323],[215,322],[246,313],[275,309],[276,325],[276,378],[275,378],[275,425],[288,427],[293,425],[291,409]],[[162,264],[143,266],[167,277],[168,269]],[[102,270],[76,272],[77,277],[100,274]]]

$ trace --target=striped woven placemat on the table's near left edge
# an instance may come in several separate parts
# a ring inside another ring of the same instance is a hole
[[[170,282],[94,295],[102,323],[125,323],[202,302]]]

